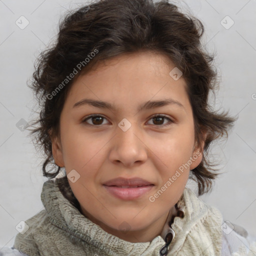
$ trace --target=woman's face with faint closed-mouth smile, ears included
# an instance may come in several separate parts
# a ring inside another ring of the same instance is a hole
[[[185,81],[176,69],[169,74],[174,67],[150,51],[98,63],[73,83],[60,115],[60,141],[52,140],[55,162],[65,167],[83,214],[127,241],[160,234],[202,158],[194,148]],[[107,183],[118,177],[151,185]]]

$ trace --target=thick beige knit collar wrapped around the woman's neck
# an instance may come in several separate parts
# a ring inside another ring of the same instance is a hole
[[[71,190],[70,186],[68,187],[68,189]],[[99,225],[93,223],[82,215],[80,211],[63,196],[56,185],[55,180],[44,182],[41,192],[41,200],[51,223],[68,231],[70,240],[73,242],[86,242],[92,244],[110,255],[117,255],[116,252],[118,251],[118,255],[136,254],[143,256],[158,256],[159,250],[165,244],[164,237],[167,232],[166,226],[171,217],[171,209],[160,235],[156,236],[150,242],[132,243],[104,231]],[[197,230],[198,228],[200,229],[200,227],[196,228],[195,226],[197,224],[201,225],[206,218],[211,219],[211,224],[216,225],[211,226],[212,229],[210,229],[209,232],[215,231],[217,234],[220,234],[220,240],[218,240],[217,237],[214,237],[214,242],[216,246],[220,246],[221,248],[221,230],[219,227],[222,222],[222,216],[216,209],[211,209],[197,198],[189,188],[184,189],[177,205],[178,207],[184,208],[185,216],[184,218],[174,218],[171,227],[176,235],[169,245],[168,255],[170,252],[172,253],[171,255],[175,255],[182,248],[186,242],[186,236],[190,231],[194,229],[195,234],[196,232],[200,232],[200,230]],[[210,246],[213,247],[212,244]],[[215,250],[215,248],[212,249],[212,251]]]

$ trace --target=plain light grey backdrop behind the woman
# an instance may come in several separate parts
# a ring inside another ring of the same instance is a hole
[[[28,131],[18,128],[36,108],[26,81],[35,58],[56,35],[60,16],[81,3],[86,1],[0,0],[0,248],[12,246],[15,226],[43,208],[42,158]],[[203,45],[217,53],[221,81],[215,107],[239,116],[226,142],[212,147],[223,174],[201,198],[256,235],[256,0],[174,3],[202,21]],[[188,186],[195,188],[190,181]]]

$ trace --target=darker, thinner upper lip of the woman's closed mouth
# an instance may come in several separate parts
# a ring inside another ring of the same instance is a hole
[[[116,185],[116,186],[145,186],[145,185],[153,185],[153,183],[139,178],[139,177],[134,177],[134,178],[123,178],[123,177],[117,177],[113,179],[109,179],[106,182],[104,182],[103,185],[111,186],[111,185]]]

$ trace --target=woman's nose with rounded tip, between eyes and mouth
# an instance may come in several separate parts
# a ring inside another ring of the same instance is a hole
[[[111,143],[109,159],[115,164],[121,162],[123,165],[131,167],[137,163],[141,164],[147,159],[148,148],[142,132],[135,127],[135,124],[132,124],[126,131],[117,127]]]

